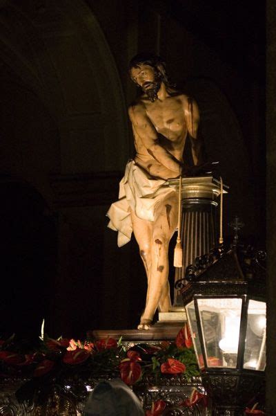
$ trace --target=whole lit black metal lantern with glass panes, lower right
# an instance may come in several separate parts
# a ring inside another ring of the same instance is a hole
[[[262,402],[266,368],[264,252],[232,246],[197,257],[181,292],[213,415]]]

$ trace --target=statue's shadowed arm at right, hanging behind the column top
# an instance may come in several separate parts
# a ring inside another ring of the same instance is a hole
[[[192,145],[193,162],[195,165],[201,165],[204,162],[204,156],[203,143],[198,137],[199,108],[197,102],[187,96],[184,99],[184,116]]]

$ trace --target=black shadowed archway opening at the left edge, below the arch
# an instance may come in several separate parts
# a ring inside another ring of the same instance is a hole
[[[30,184],[1,176],[0,334],[37,336],[57,269],[57,221]]]

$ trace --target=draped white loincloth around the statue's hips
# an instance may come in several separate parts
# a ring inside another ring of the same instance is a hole
[[[130,208],[137,217],[155,221],[157,208],[175,190],[164,186],[164,179],[155,179],[135,163],[126,165],[124,178],[119,184],[119,201],[114,202],[108,212],[108,227],[118,231],[118,246],[128,243],[132,234]]]

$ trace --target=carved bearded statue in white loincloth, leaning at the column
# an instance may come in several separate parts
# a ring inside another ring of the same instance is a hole
[[[195,165],[202,163],[203,152],[197,103],[170,84],[161,58],[137,55],[129,71],[143,91],[128,109],[136,155],[128,162],[119,201],[108,217],[110,228],[119,231],[119,246],[129,241],[132,230],[139,244],[148,291],[138,329],[148,329],[157,307],[166,312],[171,306],[168,244],[177,227],[177,192],[164,183],[187,168],[183,154],[188,136]]]

